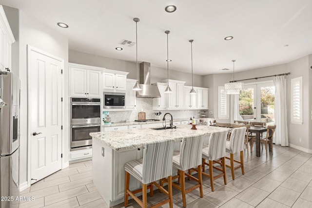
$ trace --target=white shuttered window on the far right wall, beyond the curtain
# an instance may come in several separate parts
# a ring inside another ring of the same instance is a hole
[[[302,76],[292,79],[291,122],[302,124]]]

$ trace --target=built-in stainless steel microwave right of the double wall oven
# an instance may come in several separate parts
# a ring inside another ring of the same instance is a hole
[[[103,108],[104,109],[124,109],[125,108],[125,93],[103,93]]]

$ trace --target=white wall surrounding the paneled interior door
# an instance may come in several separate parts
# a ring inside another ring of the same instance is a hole
[[[42,24],[37,19],[32,18],[30,15],[20,10],[19,17],[19,63],[20,63],[20,184],[27,181],[27,171],[30,164],[27,163],[27,140],[30,139],[28,132],[28,83],[27,83],[27,45],[36,47],[56,57],[64,59],[64,79],[68,80],[68,39],[61,36],[55,30]],[[68,92],[68,82],[65,81],[65,92]],[[65,93],[68,97],[68,93]],[[64,114],[68,114],[68,100],[64,99],[65,109]],[[67,124],[67,128],[66,128]],[[65,135],[68,135],[68,116],[65,116]],[[68,141],[68,137],[64,140]],[[64,143],[65,149],[68,151],[68,142]],[[63,154],[66,161],[68,161],[68,152]]]

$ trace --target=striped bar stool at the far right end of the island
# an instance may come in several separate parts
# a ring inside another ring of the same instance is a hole
[[[230,160],[231,165],[226,165],[226,167],[231,168],[232,179],[235,179],[234,170],[241,168],[242,174],[244,171],[244,140],[246,134],[246,127],[234,128],[231,133],[230,141],[226,141],[226,151],[230,152],[230,157],[225,157]],[[234,154],[240,152],[240,161],[234,160]],[[238,166],[234,167],[234,162],[239,163]]]

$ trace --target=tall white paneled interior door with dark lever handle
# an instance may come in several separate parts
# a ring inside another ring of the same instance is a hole
[[[61,169],[62,62],[30,51],[31,184]],[[36,134],[38,133],[38,134]]]

